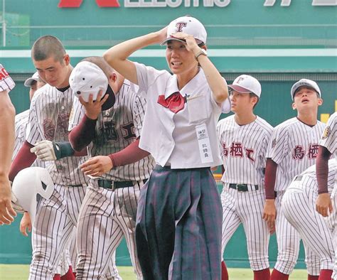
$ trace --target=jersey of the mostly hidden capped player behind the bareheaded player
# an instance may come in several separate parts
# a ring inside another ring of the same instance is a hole
[[[26,139],[26,129],[29,119],[29,110],[26,110],[24,112],[21,112],[20,114],[17,114],[15,116],[15,141],[14,141],[14,151],[12,156],[12,161],[16,157],[16,154],[18,154],[18,150],[20,150],[21,146],[23,145],[23,142]],[[38,158],[36,158],[36,161],[33,162],[31,166],[38,166],[38,167],[46,167],[47,162],[41,161]]]

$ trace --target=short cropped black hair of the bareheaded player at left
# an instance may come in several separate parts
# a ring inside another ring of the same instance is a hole
[[[36,61],[53,57],[55,61],[63,63],[65,48],[58,38],[54,36],[42,36],[38,38],[31,48],[31,58]]]

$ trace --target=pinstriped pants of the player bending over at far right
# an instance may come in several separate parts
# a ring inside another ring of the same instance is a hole
[[[299,232],[306,249],[320,259],[321,269],[333,269],[334,250],[331,230],[315,210],[316,193],[311,188],[296,188],[301,181],[293,181],[282,199],[284,217]],[[306,258],[307,259],[307,258]],[[309,267],[308,267],[309,269]],[[313,275],[314,271],[309,271]]]

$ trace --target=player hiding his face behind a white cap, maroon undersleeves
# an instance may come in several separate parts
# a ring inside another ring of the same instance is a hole
[[[88,155],[92,158],[81,167],[85,174],[95,176],[90,179],[78,220],[77,277],[99,279],[104,275],[124,235],[137,279],[143,279],[134,227],[139,191],[149,178],[154,161],[147,156],[125,166],[114,164],[112,168],[114,159],[110,156],[139,137],[145,99],[136,95],[136,86],[114,72],[103,58],[86,58],[79,63],[70,75],[70,86],[79,96],[74,100],[69,124],[70,143],[75,150],[90,144]],[[102,99],[102,91],[93,96],[100,87],[109,94]],[[92,98],[97,100],[92,102]],[[108,167],[100,172],[100,166]]]

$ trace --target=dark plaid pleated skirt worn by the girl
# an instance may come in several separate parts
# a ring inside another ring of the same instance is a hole
[[[144,279],[220,279],[222,212],[210,168],[156,166],[137,208]]]

